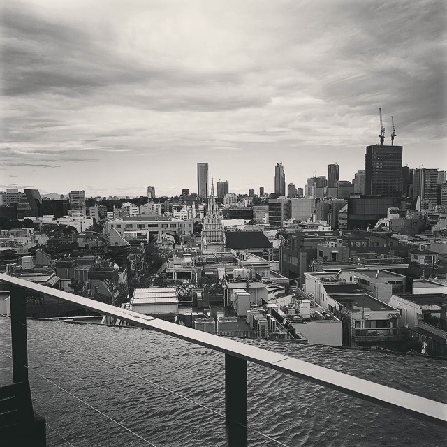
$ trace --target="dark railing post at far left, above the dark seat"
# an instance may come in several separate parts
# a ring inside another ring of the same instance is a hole
[[[13,382],[28,380],[27,305],[23,288],[10,286]]]

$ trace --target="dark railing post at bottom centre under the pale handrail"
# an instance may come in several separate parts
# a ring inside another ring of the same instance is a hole
[[[247,360],[225,354],[226,447],[247,447]]]

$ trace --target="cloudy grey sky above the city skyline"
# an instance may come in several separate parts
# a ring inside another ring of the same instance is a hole
[[[363,168],[391,115],[404,164],[447,168],[446,2],[40,0],[2,20],[0,189],[304,186]]]

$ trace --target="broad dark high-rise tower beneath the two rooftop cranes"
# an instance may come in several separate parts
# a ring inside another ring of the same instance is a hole
[[[402,146],[367,146],[365,195],[402,197]]]

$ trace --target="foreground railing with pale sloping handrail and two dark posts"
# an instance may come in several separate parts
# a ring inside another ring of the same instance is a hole
[[[26,295],[33,291],[225,354],[226,446],[247,446],[247,362],[447,426],[447,404],[185,326],[0,274],[10,286],[13,381],[28,380]]]

